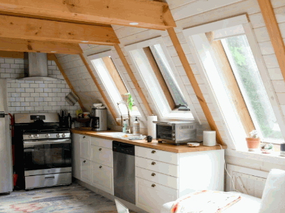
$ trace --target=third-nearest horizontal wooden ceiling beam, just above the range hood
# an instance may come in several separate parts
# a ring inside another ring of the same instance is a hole
[[[80,52],[82,52],[82,49],[79,47],[79,45],[74,43],[30,41],[17,38],[0,38],[0,51],[80,54]]]

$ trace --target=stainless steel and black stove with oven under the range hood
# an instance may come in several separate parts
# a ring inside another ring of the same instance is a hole
[[[71,184],[71,132],[59,128],[57,113],[14,117],[18,162],[22,159],[18,172],[24,176],[24,189]]]

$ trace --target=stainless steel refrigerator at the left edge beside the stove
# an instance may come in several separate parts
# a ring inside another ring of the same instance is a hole
[[[13,191],[12,142],[9,122],[7,80],[0,79],[0,193]]]

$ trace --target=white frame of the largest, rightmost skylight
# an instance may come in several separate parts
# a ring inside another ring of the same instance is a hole
[[[254,34],[254,31],[253,31],[251,25],[249,24],[249,20],[247,19],[247,15],[240,15],[238,17],[228,18],[226,20],[220,20],[217,22],[212,22],[210,24],[203,24],[203,25],[198,26],[198,27],[184,29],[183,34],[187,40],[187,43],[189,44],[189,47],[191,48],[191,52],[193,51],[196,53],[196,54],[193,54],[193,56],[195,57],[195,59],[200,61],[200,59],[198,57],[198,50],[195,47],[195,43],[193,42],[192,36],[196,36],[196,35],[206,36],[206,33],[209,31],[215,31],[215,30],[224,29],[224,28],[228,28],[228,27],[234,27],[234,26],[238,26],[240,24],[242,24],[242,27],[244,28],[244,35],[247,36],[247,41],[249,42],[251,52],[254,54],[254,59],[256,61],[256,65],[258,66],[258,71],[261,75],[261,80],[263,82],[265,90],[266,90],[268,97],[270,99],[270,104],[272,105],[273,112],[275,113],[275,116],[277,117],[277,123],[279,124],[279,127],[281,129],[283,138],[285,138],[285,121],[284,121],[284,117],[282,115],[282,110],[280,108],[279,103],[277,102],[277,95],[275,93],[274,87],[273,87],[272,82],[270,80],[270,75],[268,73],[268,69],[265,66],[265,61],[264,61],[263,56],[261,54],[261,50],[260,50],[258,43],[256,41],[256,36]],[[238,35],[236,35],[236,36],[238,36]],[[219,118],[221,119],[221,121],[226,123],[224,115],[219,108],[219,104],[217,102],[217,98],[215,97],[215,94],[214,94],[214,91],[212,89],[210,80],[207,77],[207,73],[205,73],[205,70],[204,70],[203,66],[201,66],[201,63],[198,63],[198,67],[202,71],[201,73],[203,75],[203,78],[205,80],[207,80],[207,82],[208,82],[208,85],[207,85],[208,91],[212,91],[212,92],[210,92],[210,96],[211,96],[212,100],[215,100],[215,101],[213,101],[214,108],[218,112],[218,115],[219,115]],[[226,127],[226,131],[225,131],[226,135],[231,140],[231,144],[229,144],[229,147],[231,147],[232,149],[240,149],[240,145],[236,144],[234,142],[233,136],[231,135],[231,132],[228,129],[227,124],[224,124],[223,126]],[[243,143],[243,144],[245,146],[245,143]]]

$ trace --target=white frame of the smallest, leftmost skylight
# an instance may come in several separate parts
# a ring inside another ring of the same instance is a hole
[[[135,103],[138,103],[138,99],[136,98],[136,94],[133,92],[133,89],[131,88],[131,85],[129,85],[128,80],[126,79],[124,73],[122,72],[122,70],[120,68],[119,63],[116,60],[117,58],[119,58],[119,56],[117,56],[117,54],[115,52],[113,52],[113,51],[115,51],[115,50],[108,50],[108,51],[105,51],[105,52],[100,52],[100,53],[96,53],[96,54],[90,54],[90,55],[87,56],[87,58],[89,59],[89,61],[92,64],[92,60],[94,60],[94,59],[102,59],[104,57],[110,57],[112,59],[113,64],[115,65],[115,68],[117,69],[119,75],[121,76],[121,78],[122,78],[122,80],[124,82],[124,86],[126,87],[126,89],[131,94],[131,96],[133,98],[133,101]],[[105,86],[104,86],[104,84],[103,84],[103,82],[101,80],[101,76],[98,74],[98,71],[97,71],[96,67],[93,66],[93,64],[92,64],[92,68],[94,68],[94,71],[96,71],[96,75],[99,77],[99,79],[100,79],[100,81],[101,81],[101,83],[103,85],[103,88],[108,93],[108,97],[112,100],[112,98],[111,98],[111,96],[109,94],[108,89],[105,88]],[[110,75],[110,73],[108,73],[108,75]],[[110,76],[110,78],[111,78],[112,82],[115,85],[115,82],[112,79],[112,76]],[[116,85],[115,85],[115,87],[117,88]],[[118,88],[117,88],[117,90],[119,91]],[[117,103],[114,103],[114,101],[112,100],[111,104],[115,108],[115,111],[116,111],[116,114],[117,114],[117,118],[120,119],[121,113],[119,111]],[[140,112],[140,115],[131,115],[131,117],[140,117],[141,120],[146,121],[147,119],[145,117],[145,114],[144,114],[144,112],[142,111],[142,109],[139,106],[138,106],[138,111]]]

